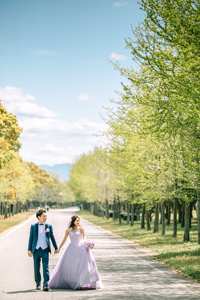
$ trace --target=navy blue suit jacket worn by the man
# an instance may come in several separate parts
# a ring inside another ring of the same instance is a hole
[[[45,224],[45,230],[47,228],[49,228],[49,232],[46,232],[46,241],[48,244],[48,250],[51,253],[51,245],[50,245],[50,238],[53,244],[53,247],[55,248],[55,250],[58,249],[58,246],[56,244],[55,241],[55,237],[53,235],[53,229],[52,229],[52,225],[48,224],[48,223],[44,223]],[[37,238],[38,238],[38,223],[32,224],[31,225],[31,230],[30,230],[30,236],[29,236],[29,241],[28,241],[28,251],[31,251],[32,253],[34,253],[35,251],[35,247],[37,244]]]

